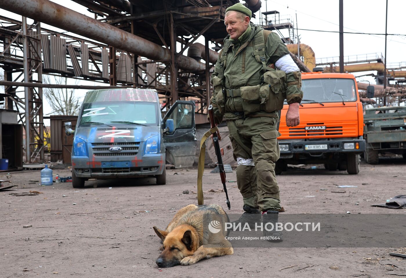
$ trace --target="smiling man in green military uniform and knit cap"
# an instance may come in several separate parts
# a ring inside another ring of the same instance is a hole
[[[297,126],[303,92],[299,68],[286,45],[277,34],[250,19],[251,11],[240,3],[226,10],[224,23],[229,35],[214,68],[210,101],[216,122],[223,117],[227,120],[238,163],[237,184],[245,211],[240,220],[262,213],[262,220],[269,222],[277,221],[281,209],[274,171],[279,159],[276,138],[281,135],[276,129],[278,111],[286,99],[286,124]]]

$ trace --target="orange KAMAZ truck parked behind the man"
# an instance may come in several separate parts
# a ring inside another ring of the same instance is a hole
[[[357,174],[365,140],[362,104],[354,75],[302,73],[302,91],[298,126],[286,126],[286,103],[281,111],[278,138],[281,156],[275,172],[286,171],[287,164],[324,164],[330,171]]]

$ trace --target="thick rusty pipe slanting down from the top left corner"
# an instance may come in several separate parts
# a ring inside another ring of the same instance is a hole
[[[171,60],[169,49],[49,0],[0,1],[0,8],[151,60]],[[184,55],[179,56],[177,63],[178,68],[188,71],[205,69],[205,64]]]

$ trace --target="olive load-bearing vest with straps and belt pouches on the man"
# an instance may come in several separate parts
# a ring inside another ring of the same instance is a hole
[[[253,32],[257,32],[257,28],[258,26],[255,26]],[[214,92],[220,113],[244,113],[246,116],[254,116],[256,113],[272,113],[283,108],[283,100],[286,98],[286,73],[266,65],[270,58],[268,53],[273,53],[278,47],[277,44],[274,44],[275,49],[266,49],[266,41],[271,32],[261,28],[252,38],[254,48],[252,56],[262,65],[261,84],[238,89],[225,88],[224,71],[227,67],[227,51],[231,44],[228,38],[225,39],[220,55],[220,72],[217,77],[213,77]],[[242,51],[246,51],[246,49]],[[235,101],[230,98],[235,98]]]

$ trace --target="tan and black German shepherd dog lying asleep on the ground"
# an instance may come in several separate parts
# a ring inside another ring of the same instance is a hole
[[[220,205],[187,205],[181,208],[165,231],[153,227],[162,240],[158,267],[192,265],[201,259],[231,255],[234,250],[225,237],[229,218]]]

